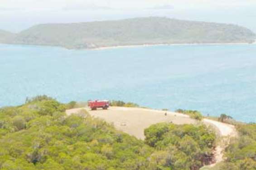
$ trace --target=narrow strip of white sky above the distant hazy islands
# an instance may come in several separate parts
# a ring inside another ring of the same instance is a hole
[[[155,5],[189,7],[256,5],[256,0],[0,0],[6,9],[60,9],[72,5],[97,5],[112,8],[143,8]]]

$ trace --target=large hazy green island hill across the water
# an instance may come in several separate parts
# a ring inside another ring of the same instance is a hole
[[[237,25],[150,17],[40,24],[20,32],[10,43],[87,49],[144,44],[252,43],[255,39],[255,33]]]

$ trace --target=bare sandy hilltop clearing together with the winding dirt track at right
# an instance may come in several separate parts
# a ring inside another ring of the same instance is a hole
[[[160,122],[172,122],[174,124],[197,124],[197,121],[190,119],[188,115],[174,113],[170,111],[151,110],[143,108],[128,108],[128,107],[110,107],[109,110],[89,110],[88,108],[77,108],[67,110],[66,113],[71,115],[86,109],[90,115],[106,120],[108,123],[113,123],[116,129],[135,136],[139,139],[144,139],[144,129],[152,124]],[[167,115],[165,115],[167,113]],[[224,148],[229,144],[230,138],[237,136],[237,131],[234,126],[224,124],[210,119],[203,119],[203,123],[213,126],[222,137],[214,151],[216,163],[223,160]],[[214,166],[212,164],[211,166]]]

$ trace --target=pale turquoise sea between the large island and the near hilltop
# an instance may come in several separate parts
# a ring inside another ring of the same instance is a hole
[[[132,101],[256,122],[256,45],[72,51],[0,45],[0,106],[46,94],[62,102]]]

